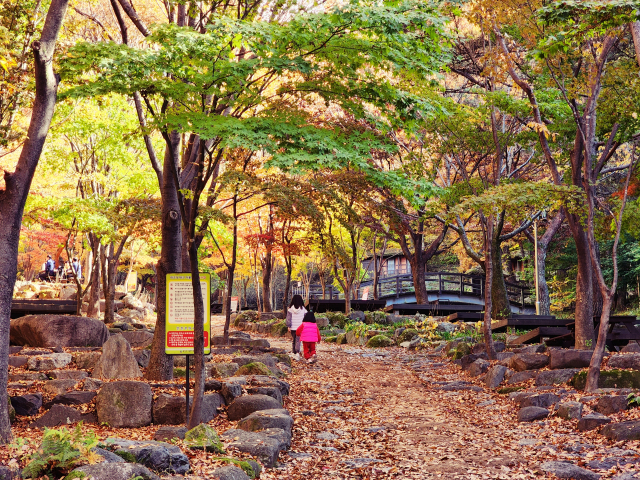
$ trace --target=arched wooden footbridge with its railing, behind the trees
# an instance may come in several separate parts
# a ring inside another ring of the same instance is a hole
[[[484,275],[464,273],[427,272],[425,273],[427,299],[430,304],[466,304],[484,306]],[[516,314],[535,314],[535,293],[533,289],[506,282],[507,295],[511,311]],[[322,287],[310,286],[309,298],[321,299]],[[415,304],[415,288],[410,274],[382,277],[378,280],[378,298],[384,300],[387,307],[398,304]],[[294,294],[303,295],[303,286],[294,286]],[[373,281],[362,282],[354,292],[354,299],[373,298]],[[344,294],[332,285],[326,287],[326,300],[344,299]]]

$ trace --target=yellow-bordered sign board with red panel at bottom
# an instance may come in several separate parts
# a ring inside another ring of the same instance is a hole
[[[193,287],[190,273],[167,274],[165,353],[193,355]],[[211,275],[200,273],[204,303],[204,353],[211,353]]]

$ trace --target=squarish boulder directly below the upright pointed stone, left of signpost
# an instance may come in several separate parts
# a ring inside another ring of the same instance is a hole
[[[98,420],[116,428],[144,427],[151,423],[152,401],[153,393],[147,383],[105,383],[96,398]]]

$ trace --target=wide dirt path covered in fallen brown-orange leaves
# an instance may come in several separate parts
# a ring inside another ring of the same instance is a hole
[[[290,349],[285,339],[268,339]],[[549,460],[602,478],[638,468],[640,442],[611,445],[555,417],[518,423],[506,395],[443,390],[447,382],[472,380],[439,355],[335,344],[318,350],[317,365],[294,362],[287,377],[285,406],[295,420],[291,450],[261,478],[545,478],[538,467]],[[566,400],[580,395],[556,393]],[[612,457],[624,449],[626,456]]]

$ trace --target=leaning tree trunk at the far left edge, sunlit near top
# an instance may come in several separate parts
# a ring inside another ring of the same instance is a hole
[[[5,190],[0,191],[0,444],[11,440],[7,403],[9,328],[11,299],[18,272],[18,243],[24,204],[29,194],[56,104],[58,81],[53,72],[53,53],[68,0],[52,0],[40,41],[32,44],[36,93],[27,140],[13,173],[5,171]]]

